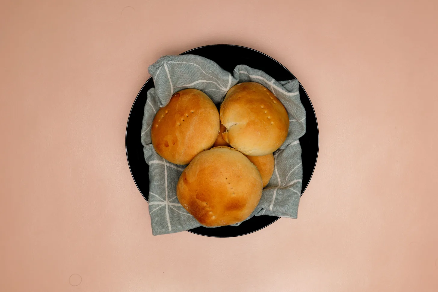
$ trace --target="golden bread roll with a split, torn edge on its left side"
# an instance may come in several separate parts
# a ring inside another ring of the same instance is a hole
[[[234,85],[220,107],[220,120],[227,129],[223,139],[251,156],[277,150],[286,140],[289,117],[283,104],[257,82]]]

